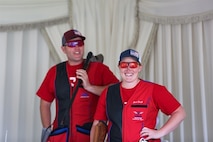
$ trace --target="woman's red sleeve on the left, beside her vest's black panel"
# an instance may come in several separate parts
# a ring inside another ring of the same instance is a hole
[[[98,104],[96,107],[96,112],[94,115],[94,120],[107,120],[107,115],[106,115],[107,90],[108,88],[104,89],[104,91],[101,93],[101,96],[99,97]]]

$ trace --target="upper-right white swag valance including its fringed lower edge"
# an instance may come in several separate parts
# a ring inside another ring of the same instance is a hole
[[[212,0],[141,0],[139,15],[153,23],[195,23],[213,18],[212,5]]]

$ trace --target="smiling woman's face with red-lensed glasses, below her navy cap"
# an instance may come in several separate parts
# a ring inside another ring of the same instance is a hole
[[[142,66],[131,57],[125,57],[118,65],[120,75],[124,83],[134,83],[138,81],[139,72]]]

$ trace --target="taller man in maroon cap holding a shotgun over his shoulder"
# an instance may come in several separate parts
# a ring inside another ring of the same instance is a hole
[[[43,131],[52,124],[50,106],[55,99],[56,117],[53,129],[62,127],[62,121],[66,120],[63,123],[69,127],[69,142],[89,142],[89,134],[85,134],[84,129],[93,122],[99,95],[106,86],[118,82],[109,67],[101,62],[90,62],[87,70],[82,69],[85,62],[85,39],[75,29],[64,33],[61,49],[66,54],[67,61],[50,68],[37,91],[41,99]],[[79,80],[82,81],[81,86],[71,108],[68,108]],[[66,110],[69,111],[66,113]]]

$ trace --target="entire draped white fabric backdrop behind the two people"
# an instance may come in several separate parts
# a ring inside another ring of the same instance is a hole
[[[48,68],[66,60],[61,36],[71,27],[118,78],[120,52],[137,49],[141,77],[184,105],[186,120],[163,139],[213,141],[212,15],[212,0],[0,0],[0,141],[40,141],[35,93]]]

